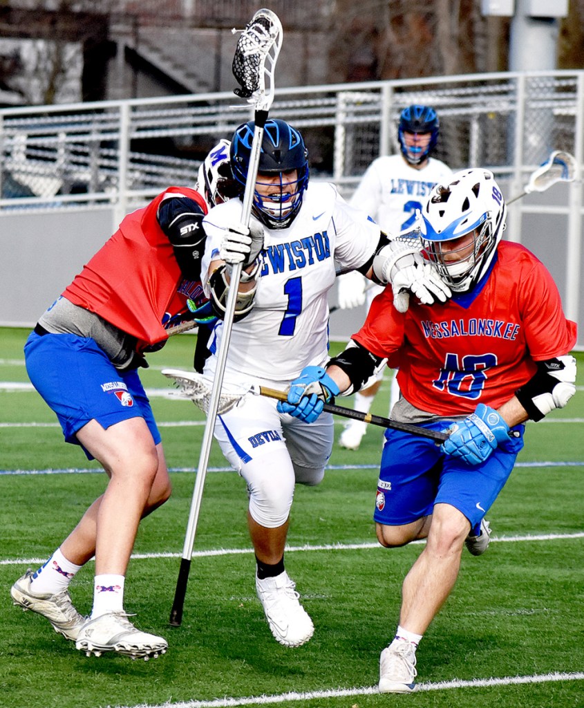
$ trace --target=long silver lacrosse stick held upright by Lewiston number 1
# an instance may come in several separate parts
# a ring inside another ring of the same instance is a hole
[[[281,45],[282,25],[277,15],[270,10],[258,10],[253,18],[251,18],[251,22],[248,23],[241,33],[237,41],[233,59],[233,74],[236,81],[241,86],[241,88],[235,89],[234,93],[236,96],[246,98],[248,103],[255,107],[253,142],[251,145],[246,188],[244,190],[243,205],[241,208],[241,224],[246,228],[249,227],[253,191],[258,176],[263,127],[265,126],[265,121],[268,120],[268,111],[274,99],[274,71]],[[213,441],[213,430],[217,418],[217,409],[219,407],[219,394],[221,392],[225,364],[227,362],[227,350],[229,348],[231,328],[234,321],[241,269],[241,263],[236,263],[231,271],[231,285],[225,305],[222,340],[217,353],[217,367],[207,409],[207,422],[205,423],[205,433],[203,433],[195,489],[193,489],[193,499],[190,505],[185,544],[183,546],[183,557],[181,559],[181,568],[178,572],[176,591],[171,609],[170,624],[173,627],[178,627],[183,619],[183,607],[190,572],[190,561],[193,555],[202,489],[207,474],[207,464],[209,462]]]

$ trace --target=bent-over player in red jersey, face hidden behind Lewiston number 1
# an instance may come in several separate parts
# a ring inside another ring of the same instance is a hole
[[[200,282],[202,218],[207,204],[222,200],[218,169],[229,161],[228,151],[223,143],[211,151],[199,191],[171,187],[127,215],[25,344],[30,380],[57,413],[65,440],[101,462],[110,481],[55,554],[14,583],[11,596],[88,654],[149,658],[167,648],[162,637],[134,627],[123,608],[139,521],[171,493],[137,370],[147,366],[144,353],[164,345],[169,326],[212,316]],[[93,610],[83,617],[68,588],[93,556]]]

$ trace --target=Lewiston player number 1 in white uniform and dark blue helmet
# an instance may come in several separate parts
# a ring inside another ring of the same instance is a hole
[[[246,183],[253,122],[231,140],[234,178]],[[241,226],[241,201],[210,210],[202,261],[205,292],[219,317],[209,341],[204,375],[212,379],[222,338],[231,266],[242,263],[223,389],[242,394],[253,384],[286,389],[304,367],[328,360],[327,293],[336,271],[359,269],[388,282],[396,307],[408,292],[422,302],[444,302],[450,291],[415,249],[389,241],[365,212],[350,207],[328,183],[308,187],[302,135],[282,120],[265,123],[250,228]],[[205,275],[206,274],[206,275]],[[334,389],[334,387],[333,387]],[[273,399],[245,396],[217,417],[215,438],[249,496],[248,528],[256,553],[256,590],[273,636],[301,646],[314,632],[284,566],[294,484],[319,484],[331,455],[333,420],[314,426],[278,413]]]

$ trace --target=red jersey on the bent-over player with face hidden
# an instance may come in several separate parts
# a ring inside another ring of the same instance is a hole
[[[193,189],[170,187],[122,219],[120,227],[63,292],[70,302],[95,312],[134,336],[138,350],[167,338],[164,322],[184,311],[188,298],[202,299],[200,282],[183,280],[156,212],[165,196],[188,197],[207,213]]]

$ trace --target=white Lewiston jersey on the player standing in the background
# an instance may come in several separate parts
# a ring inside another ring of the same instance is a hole
[[[413,227],[416,210],[422,209],[433,186],[451,175],[450,167],[432,157],[420,170],[401,154],[378,157],[365,171],[350,203],[396,236]]]

